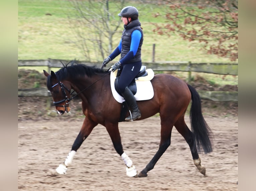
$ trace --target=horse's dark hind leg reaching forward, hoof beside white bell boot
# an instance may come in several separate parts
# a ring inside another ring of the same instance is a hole
[[[170,117],[168,116],[168,118]],[[173,124],[170,122],[170,120],[169,119],[165,120],[164,117],[161,116],[161,140],[160,140],[159,148],[156,154],[154,155],[154,157],[147,164],[147,166],[138,174],[138,177],[146,177],[147,172],[154,168],[156,162],[159,160],[162,154],[166,151],[166,149],[170,146],[172,127],[173,127]]]

